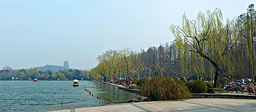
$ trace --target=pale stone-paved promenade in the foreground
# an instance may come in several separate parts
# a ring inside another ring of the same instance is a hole
[[[70,108],[49,112],[254,112],[256,100],[188,99]]]

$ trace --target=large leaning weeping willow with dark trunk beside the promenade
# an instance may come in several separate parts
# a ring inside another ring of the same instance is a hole
[[[170,30],[175,36],[178,55],[184,58],[183,62],[180,62],[183,71],[188,72],[193,68],[204,71],[206,67],[210,72],[215,71],[214,87],[219,86],[220,63],[224,63],[232,73],[234,69],[230,62],[232,57],[226,54],[238,44],[240,35],[236,20],[227,20],[223,23],[221,9],[216,8],[213,12],[206,11],[206,13],[199,12],[195,20],[189,20],[184,14],[181,27],[171,25]],[[211,65],[204,65],[202,59],[208,60]],[[194,67],[188,68],[188,60],[194,60],[191,62]]]

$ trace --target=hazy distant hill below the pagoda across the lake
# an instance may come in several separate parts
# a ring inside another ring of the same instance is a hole
[[[51,70],[53,72],[58,72],[59,70],[68,70],[69,68],[63,66],[56,66],[56,65],[45,65],[43,67],[36,67],[38,71],[46,71]]]

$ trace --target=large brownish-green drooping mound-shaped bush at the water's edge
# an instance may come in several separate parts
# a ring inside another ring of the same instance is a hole
[[[184,83],[163,76],[146,81],[139,93],[155,100],[156,91],[161,93],[161,100],[187,99],[191,95]]]

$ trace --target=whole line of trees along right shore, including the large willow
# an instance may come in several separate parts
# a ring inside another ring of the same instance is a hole
[[[183,15],[182,25],[172,25],[175,41],[149,47],[147,51],[109,50],[98,57],[99,64],[88,73],[95,78],[150,76],[205,76],[219,82],[220,76],[255,76],[256,13],[223,22],[222,12],[199,12],[195,20]],[[218,83],[214,83],[217,87]]]

